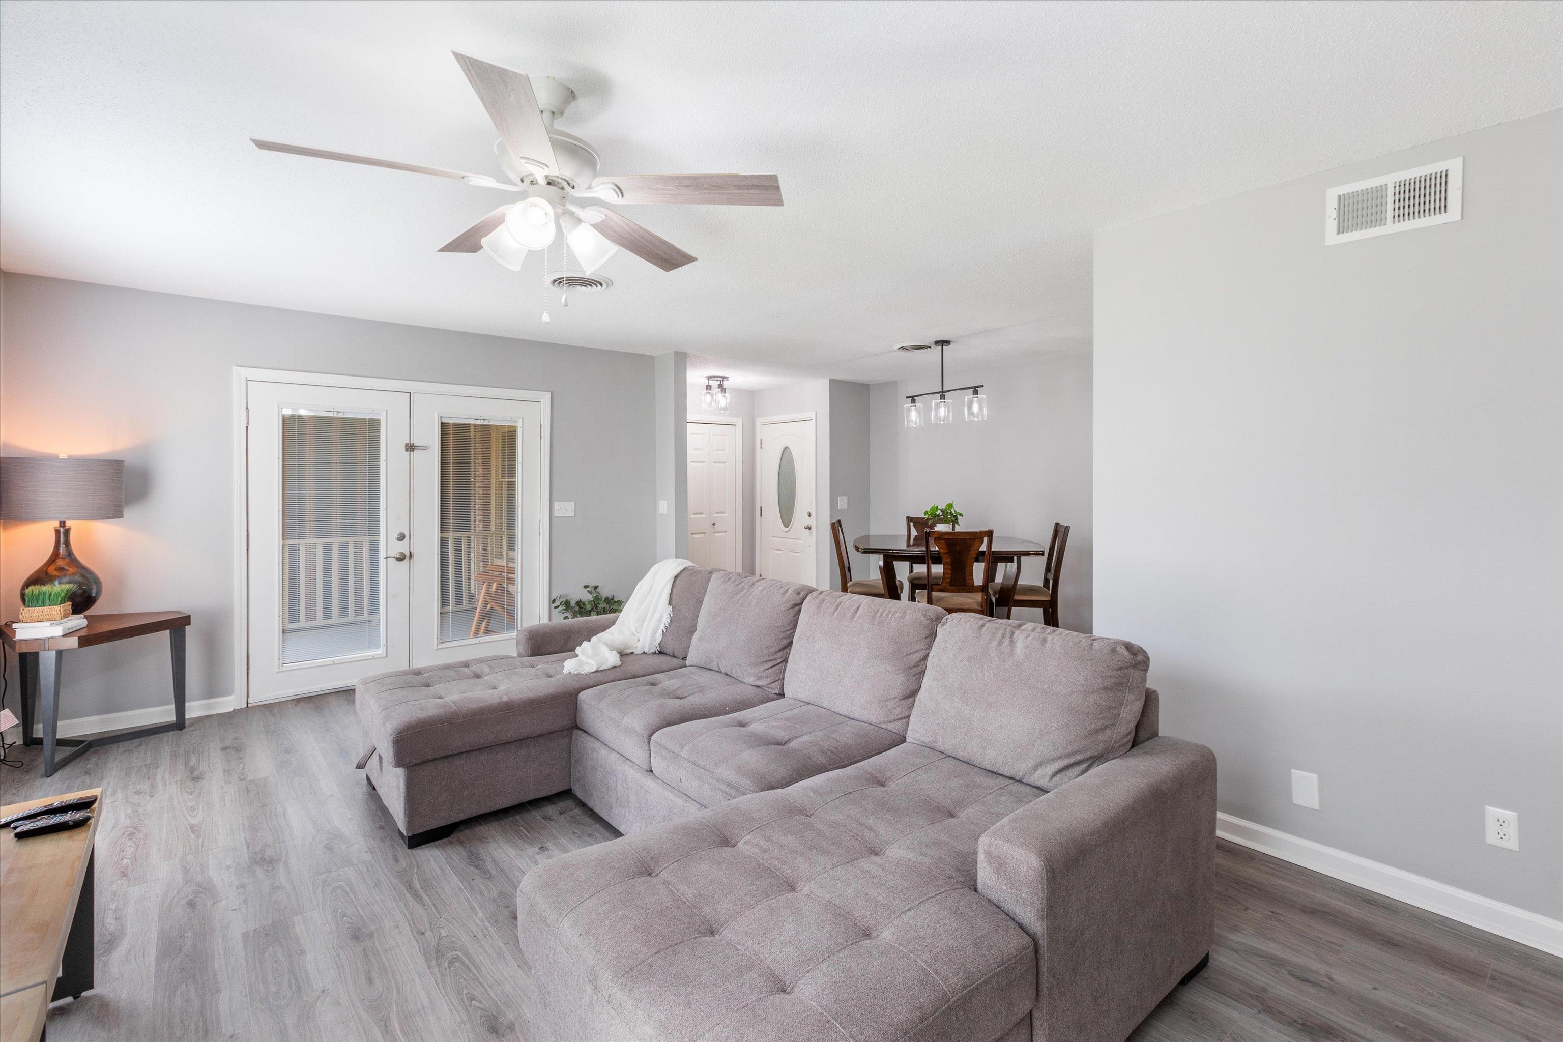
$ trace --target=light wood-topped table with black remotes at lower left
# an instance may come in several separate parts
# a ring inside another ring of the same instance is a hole
[[[97,795],[92,820],[48,836],[17,839],[0,828],[0,1039],[34,1042],[58,998],[92,989],[92,840],[103,790],[86,789],[0,806],[0,817],[69,797]]]

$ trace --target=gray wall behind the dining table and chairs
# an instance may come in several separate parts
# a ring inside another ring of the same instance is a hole
[[[1091,633],[1091,353],[961,369],[960,378],[986,384],[986,422],[957,419],[949,426],[908,430],[902,395],[925,391],[928,381],[872,386],[872,530],[903,531],[908,514],[952,500],[966,528],[993,528],[1044,545],[1053,522],[1063,522],[1069,547],[1058,620],[1068,630]],[[1038,581],[1041,561],[1027,569],[1022,578]],[[900,569],[903,578],[905,572]],[[1038,611],[1016,611],[1014,617],[1043,619]]]

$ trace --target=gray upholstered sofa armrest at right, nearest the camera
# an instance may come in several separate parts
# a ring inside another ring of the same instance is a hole
[[[1036,942],[1036,1042],[1122,1042],[1210,951],[1216,756],[1153,737],[989,828],[977,890]]]

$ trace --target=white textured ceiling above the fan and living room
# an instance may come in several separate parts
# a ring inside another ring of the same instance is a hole
[[[778,173],[625,206],[700,261],[436,248],[514,195],[452,50],[556,75],[603,172]],[[0,3],[0,267],[630,351],[752,381],[1080,347],[1091,231],[1563,106],[1558,3]],[[924,366],[925,367],[925,366]]]

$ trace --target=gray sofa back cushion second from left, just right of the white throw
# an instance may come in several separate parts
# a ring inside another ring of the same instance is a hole
[[[797,616],[813,592],[799,583],[716,572],[686,661],[780,695]]]

